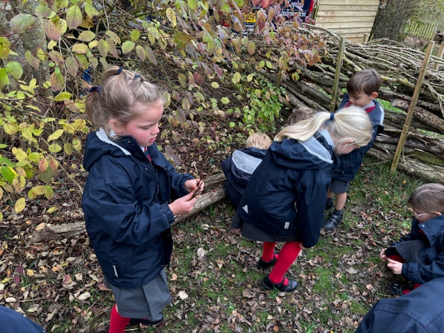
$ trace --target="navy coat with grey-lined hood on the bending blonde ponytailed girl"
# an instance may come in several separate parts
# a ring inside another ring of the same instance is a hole
[[[306,248],[314,246],[337,164],[333,146],[327,130],[305,142],[273,142],[248,182],[239,217],[265,232],[295,235]]]

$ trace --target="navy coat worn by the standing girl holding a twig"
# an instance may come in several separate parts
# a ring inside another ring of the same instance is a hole
[[[142,287],[169,264],[174,216],[168,205],[188,194],[184,184],[192,179],[155,144],[148,153],[152,164],[133,137],[111,141],[103,129],[85,143],[86,228],[105,277],[120,288]]]

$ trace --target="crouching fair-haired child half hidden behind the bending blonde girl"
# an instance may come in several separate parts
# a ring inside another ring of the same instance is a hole
[[[253,133],[247,138],[246,148],[236,150],[222,161],[225,173],[225,194],[237,208],[250,176],[264,159],[271,139],[265,133]]]

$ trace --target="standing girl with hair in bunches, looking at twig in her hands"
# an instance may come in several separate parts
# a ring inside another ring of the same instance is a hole
[[[82,205],[92,247],[116,304],[109,333],[123,333],[133,318],[153,325],[171,301],[165,266],[175,215],[191,211],[203,182],[178,173],[155,139],[164,99],[142,76],[116,66],[91,87],[89,133],[83,166],[89,175]],[[172,200],[171,200],[172,199]]]

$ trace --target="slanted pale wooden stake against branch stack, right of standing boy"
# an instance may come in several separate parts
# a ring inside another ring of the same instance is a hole
[[[416,83],[415,90],[413,91],[413,96],[411,96],[411,102],[409,105],[409,110],[407,111],[407,116],[405,117],[404,127],[402,128],[400,140],[398,142],[398,146],[396,147],[395,155],[393,156],[393,162],[390,168],[391,173],[394,173],[396,171],[396,168],[398,167],[398,162],[400,161],[401,153],[404,150],[404,144],[409,132],[411,118],[413,117],[413,111],[415,110],[416,103],[418,102],[422,83],[424,82],[425,72],[427,70],[427,66],[429,65],[430,56],[432,56],[434,44],[435,42],[433,41],[430,41],[429,44],[427,44],[427,51],[425,51],[424,61],[422,61],[422,66],[419,71],[418,82]]]

